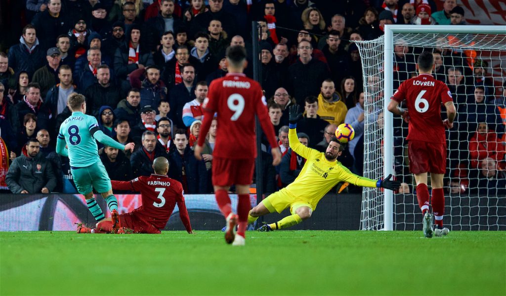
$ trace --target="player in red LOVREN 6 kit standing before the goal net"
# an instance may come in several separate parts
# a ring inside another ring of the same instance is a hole
[[[416,199],[424,215],[424,235],[443,236],[449,230],[443,227],[444,191],[443,176],[446,171],[446,135],[445,127],[453,127],[457,114],[448,86],[432,77],[434,56],[423,52],[418,56],[417,77],[408,79],[394,93],[388,110],[402,115],[409,122],[408,158],[409,171],[416,181]],[[407,110],[399,108],[406,100]],[[446,107],[448,119],[441,119],[441,103]],[[427,172],[431,173],[432,211],[436,220],[436,230],[432,230],[432,215],[429,213],[429,188]]]

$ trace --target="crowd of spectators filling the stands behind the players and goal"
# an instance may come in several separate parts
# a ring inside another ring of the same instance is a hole
[[[319,151],[336,126],[354,127],[339,160],[362,175],[364,82],[353,41],[381,36],[385,24],[466,24],[455,0],[445,0],[439,11],[432,0],[26,0],[9,6],[12,29],[2,30],[0,52],[0,144],[9,154],[0,163],[13,193],[76,193],[68,158],[55,152],[72,92],[86,96],[87,114],[105,134],[136,143],[132,154],[99,143],[112,180],[149,176],[161,156],[185,192],[212,192],[219,127],[214,121],[203,160],[196,160],[201,105],[210,82],[227,74],[229,45],[245,46],[245,74],[252,77],[251,21],[261,25],[260,82],[283,153],[272,167],[264,138],[264,192],[291,183],[305,163],[288,145],[288,106],[294,104],[305,110],[299,140]],[[394,88],[415,75],[413,51],[395,46]],[[458,114],[449,133],[448,188],[506,188],[506,82],[498,93],[488,61],[467,51],[435,48],[433,55],[433,74],[450,87]],[[407,125],[400,118],[394,123],[396,155],[402,156]],[[404,161],[395,159],[396,175],[410,184]]]

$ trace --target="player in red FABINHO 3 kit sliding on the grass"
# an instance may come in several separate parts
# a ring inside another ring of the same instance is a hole
[[[183,197],[183,186],[167,177],[167,159],[155,158],[153,170],[155,173],[149,177],[140,176],[132,181],[112,181],[114,190],[140,191],[142,196],[142,205],[139,208],[119,215],[121,228],[118,231],[114,230],[111,219],[106,219],[97,223],[95,229],[79,226],[77,233],[161,233],[177,203],[179,217],[186,231],[193,234]]]

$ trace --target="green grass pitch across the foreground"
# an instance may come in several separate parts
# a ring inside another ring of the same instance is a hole
[[[1,295],[505,295],[506,232],[2,232],[0,269]]]

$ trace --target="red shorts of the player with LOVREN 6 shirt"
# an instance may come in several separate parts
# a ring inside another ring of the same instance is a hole
[[[446,172],[446,143],[408,141],[409,171],[413,174]]]

